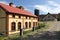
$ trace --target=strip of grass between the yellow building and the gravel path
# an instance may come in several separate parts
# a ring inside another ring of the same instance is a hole
[[[43,22],[40,22],[40,23],[43,23]],[[19,36],[19,33],[16,33],[16,34],[13,34],[13,35],[10,35],[8,37],[8,40],[24,40],[25,38],[27,38],[28,36],[34,36],[35,34],[38,34],[38,33],[41,33],[41,32],[44,32],[48,27],[49,23],[45,23],[46,26],[44,28],[41,28],[41,29],[37,29],[35,30],[34,32],[32,30],[29,30],[29,31],[24,31],[24,35],[21,37]],[[0,37],[1,40],[3,40],[4,37]]]

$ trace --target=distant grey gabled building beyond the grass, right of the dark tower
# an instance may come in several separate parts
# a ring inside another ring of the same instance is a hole
[[[57,21],[57,14],[39,15],[39,21]]]

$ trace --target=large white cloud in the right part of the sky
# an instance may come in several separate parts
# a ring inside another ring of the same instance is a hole
[[[37,8],[45,13],[60,13],[60,4],[54,1],[47,1],[47,4],[44,5],[35,5],[34,8]]]

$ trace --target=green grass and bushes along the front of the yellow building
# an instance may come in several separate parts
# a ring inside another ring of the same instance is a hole
[[[40,32],[41,28],[45,28],[46,24],[45,23],[38,23],[38,27],[35,27],[35,31],[33,32],[32,30],[28,31],[23,31],[23,36],[19,36],[18,34],[14,34],[13,36],[10,35],[7,40],[26,40],[27,37],[32,37],[36,33]],[[4,40],[4,37],[0,37],[0,40]]]

